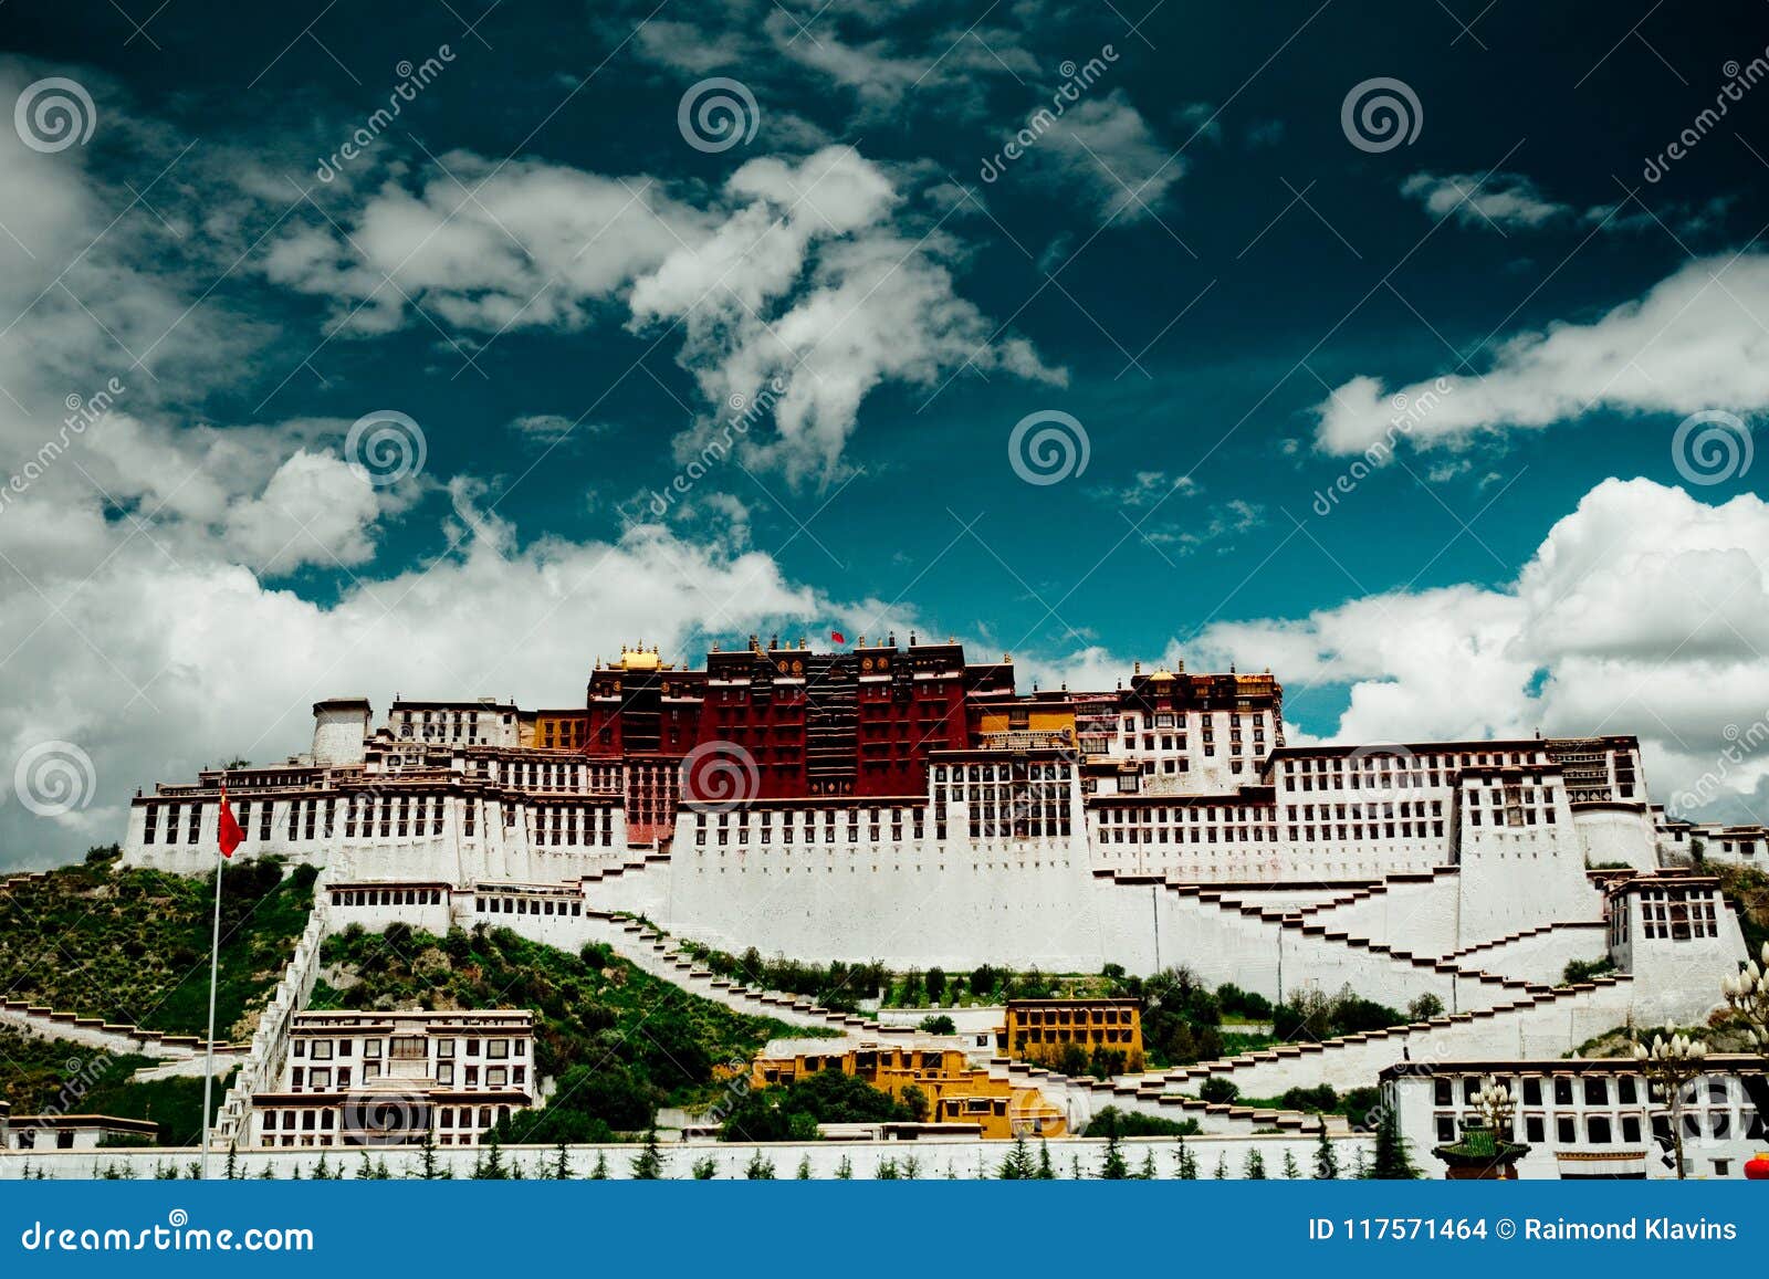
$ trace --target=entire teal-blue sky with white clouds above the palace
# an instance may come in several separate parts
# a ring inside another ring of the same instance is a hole
[[[833,628],[1272,665],[1302,738],[1638,732],[1659,798],[1755,814],[1765,46],[1742,4],[14,2],[5,469],[122,389],[0,508],[0,862],[315,697]],[[364,483],[386,414],[423,462]],[[1084,471],[1022,478],[1030,414]]]

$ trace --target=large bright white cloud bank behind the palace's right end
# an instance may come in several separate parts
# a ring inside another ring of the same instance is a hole
[[[1765,545],[1769,502],[1757,495],[1707,506],[1682,488],[1608,479],[1502,589],[1219,623],[1185,656],[1270,665],[1291,693],[1346,686],[1323,734],[1337,741],[1635,732],[1656,800],[1719,771],[1711,814],[1741,819],[1764,812],[1769,755],[1719,761],[1769,715]]]

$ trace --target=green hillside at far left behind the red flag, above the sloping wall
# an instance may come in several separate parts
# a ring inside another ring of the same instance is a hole
[[[313,909],[315,869],[230,863],[221,895],[216,1037],[251,1037]],[[115,849],[0,892],[0,996],[202,1035],[214,876],[126,870]]]

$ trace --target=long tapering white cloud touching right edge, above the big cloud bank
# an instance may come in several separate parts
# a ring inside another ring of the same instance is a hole
[[[1415,446],[1541,430],[1592,409],[1691,414],[1769,409],[1769,255],[1707,257],[1589,324],[1500,341],[1484,373],[1392,387],[1360,375],[1316,405],[1316,444],[1362,453],[1396,435],[1394,398],[1429,402],[1401,428]],[[1392,391],[1392,394],[1390,394]]]

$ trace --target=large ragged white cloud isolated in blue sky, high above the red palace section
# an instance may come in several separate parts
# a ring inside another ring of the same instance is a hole
[[[752,159],[706,207],[644,177],[444,163],[416,189],[384,186],[343,235],[288,232],[264,272],[338,299],[347,333],[410,324],[414,308],[490,334],[578,329],[605,311],[642,334],[679,325],[678,361],[708,402],[702,433],[732,396],[747,403],[780,380],[775,433],[750,432],[748,455],[793,481],[840,472],[881,382],[932,386],[964,366],[1061,380],[959,295],[959,246],[904,225],[904,193],[853,147]],[[690,433],[683,455],[699,449]]]

